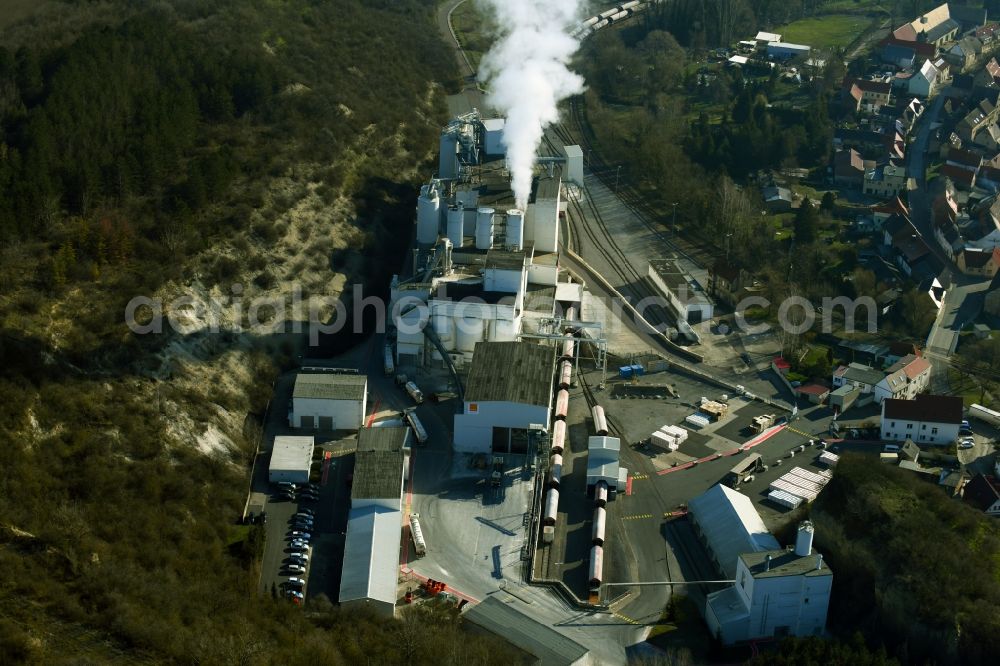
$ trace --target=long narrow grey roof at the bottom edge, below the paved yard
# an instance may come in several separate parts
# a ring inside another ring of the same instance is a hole
[[[536,657],[544,666],[574,664],[587,656],[587,648],[496,597],[476,604],[462,617],[505,638],[515,647]]]

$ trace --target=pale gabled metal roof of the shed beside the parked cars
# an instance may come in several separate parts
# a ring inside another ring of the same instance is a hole
[[[340,602],[374,599],[396,603],[402,514],[383,507],[352,509],[344,544]]]

